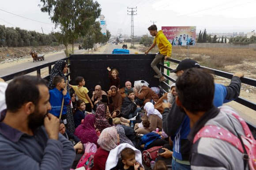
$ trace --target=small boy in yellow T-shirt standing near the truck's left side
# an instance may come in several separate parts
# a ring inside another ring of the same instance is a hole
[[[88,89],[86,87],[83,87],[83,85],[85,85],[85,81],[83,79],[83,77],[77,77],[75,79],[76,83],[78,84],[76,85],[70,85],[69,87],[72,87],[75,91],[76,96],[80,99],[83,100],[86,106],[86,111],[91,112],[91,109],[94,107],[89,96],[88,96]],[[80,121],[81,122],[81,121]]]

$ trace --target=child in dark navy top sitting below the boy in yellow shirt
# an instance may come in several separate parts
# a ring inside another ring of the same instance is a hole
[[[75,113],[74,113],[74,124],[75,124],[75,128],[77,128],[77,126],[81,125],[81,121],[84,119],[85,115],[87,114],[91,114],[88,111],[85,111],[85,103],[83,100],[77,100],[76,101],[76,109],[75,109]]]

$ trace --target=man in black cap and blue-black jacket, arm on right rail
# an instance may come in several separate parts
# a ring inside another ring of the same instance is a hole
[[[200,64],[192,59],[184,59],[182,60],[177,69],[171,70],[171,73],[176,73],[178,77],[180,77],[185,70],[190,68],[200,69]],[[241,88],[241,80],[244,74],[241,72],[237,72],[233,75],[231,79],[230,85],[224,86],[221,84],[215,85],[215,93],[213,104],[216,107],[222,106],[223,103],[230,102],[231,100],[236,99],[240,95]],[[207,89],[208,87],[200,87],[201,89]],[[195,89],[196,90],[196,89]],[[185,111],[181,109],[181,107],[177,106],[175,102],[176,96],[172,103],[172,107],[170,107],[170,103],[162,103],[162,107],[164,108],[163,116],[163,129],[165,129],[165,133],[171,137],[173,141],[173,161],[172,168],[173,170],[177,170],[179,168],[183,170],[190,170],[189,163],[189,147],[190,143],[187,138],[190,132],[189,117],[185,114]],[[197,101],[197,100],[196,100]],[[195,101],[195,102],[196,102]],[[165,152],[164,152],[165,153]]]

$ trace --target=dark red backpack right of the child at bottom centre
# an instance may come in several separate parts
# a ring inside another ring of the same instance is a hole
[[[162,146],[155,146],[153,148],[149,148],[147,150],[144,150],[142,152],[142,160],[143,162],[150,167],[151,161],[155,161],[158,156],[159,149],[162,148]]]

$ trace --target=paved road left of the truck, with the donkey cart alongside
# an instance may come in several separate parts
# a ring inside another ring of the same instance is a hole
[[[83,52],[85,52],[85,50],[78,50],[78,49],[74,50],[75,54],[82,54]],[[50,62],[53,62],[53,61],[57,61],[59,59],[63,59],[64,57],[65,57],[64,52],[49,55],[49,56],[45,55],[45,60],[43,60],[43,61],[39,60],[39,61],[36,61],[34,63],[33,63],[32,57],[31,57],[30,61],[23,62],[23,63],[20,63],[20,64],[16,64],[16,65],[11,66],[11,67],[0,69],[0,77],[4,76],[4,75],[7,75],[7,74],[16,73],[18,71],[25,70],[25,69],[28,69],[28,68],[31,68],[31,67],[36,67],[36,66],[39,66],[39,65],[42,65],[42,64],[45,64],[45,63],[50,63]]]

